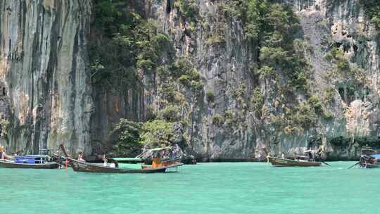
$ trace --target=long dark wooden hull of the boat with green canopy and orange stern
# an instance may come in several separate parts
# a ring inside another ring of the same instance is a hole
[[[165,172],[168,168],[177,168],[183,163],[175,163],[172,165],[163,166],[160,168],[141,168],[141,169],[127,169],[127,168],[112,168],[95,163],[87,163],[72,158],[67,158],[72,170],[75,172],[95,172],[95,173],[157,173]]]

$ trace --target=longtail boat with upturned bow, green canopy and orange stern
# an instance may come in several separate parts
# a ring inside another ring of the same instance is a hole
[[[87,163],[82,160],[75,160],[69,158],[68,153],[63,145],[60,146],[61,150],[65,154],[66,160],[75,172],[98,172],[98,173],[155,173],[165,172],[169,168],[178,168],[183,163],[177,162],[177,160],[163,160],[163,158],[153,157],[153,163],[151,166],[141,165],[141,168],[118,168],[118,162],[110,164],[99,163]],[[165,148],[166,149],[166,148]],[[158,150],[162,151],[162,150]]]

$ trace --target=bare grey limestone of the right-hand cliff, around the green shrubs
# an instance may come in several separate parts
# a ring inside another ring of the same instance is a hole
[[[238,15],[225,17],[221,8],[227,1],[193,2],[199,8],[195,22],[184,17],[175,1],[153,4],[150,13],[172,36],[177,53],[191,58],[201,72],[204,92],[215,94],[214,103],[204,99],[195,108],[198,116],[193,116],[191,124],[196,125],[190,128],[193,151],[207,158],[262,158],[267,151],[302,153],[324,144],[329,156],[350,158],[357,156],[357,147],[362,145],[337,147],[331,139],[346,137],[354,142],[357,136],[379,136],[379,31],[360,1],[281,1],[298,15],[312,73],[310,92],[291,96],[275,92],[274,85],[281,82],[252,75],[250,65],[259,58],[252,49],[257,47],[247,41],[245,24]],[[219,41],[213,40],[215,34],[221,37]],[[350,69],[359,74],[337,75],[336,62],[328,59],[332,49],[341,50]],[[257,115],[251,103],[255,87],[264,96],[265,117]],[[327,92],[331,94],[328,101]],[[291,125],[273,125],[270,118],[283,119],[284,108],[294,108],[310,94],[317,94],[331,118],[319,115],[314,127],[296,132]],[[227,118],[230,114],[235,121],[213,124],[213,115]]]

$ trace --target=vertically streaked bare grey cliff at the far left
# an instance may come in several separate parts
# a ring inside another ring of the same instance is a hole
[[[61,143],[91,149],[90,15],[89,0],[0,1],[1,113],[10,121],[2,144],[9,152]]]

